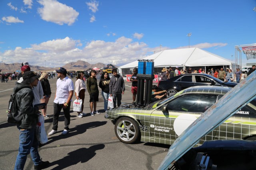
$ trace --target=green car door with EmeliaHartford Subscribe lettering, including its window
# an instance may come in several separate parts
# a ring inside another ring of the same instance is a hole
[[[150,134],[153,137],[175,141],[186,127],[216,102],[216,99],[217,95],[212,94],[186,94],[171,100],[164,104],[165,112],[161,107],[152,112]],[[215,133],[214,131],[210,134],[211,138]]]

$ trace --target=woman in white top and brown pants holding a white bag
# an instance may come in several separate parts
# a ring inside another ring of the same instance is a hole
[[[83,73],[79,72],[77,74],[75,86],[76,86],[76,90],[75,90],[76,99],[77,100],[82,99],[82,110],[80,112],[77,112],[77,114],[78,114],[77,116],[82,118],[83,115],[84,116],[86,115],[86,113],[83,113],[83,110],[84,110],[84,92],[86,90]]]

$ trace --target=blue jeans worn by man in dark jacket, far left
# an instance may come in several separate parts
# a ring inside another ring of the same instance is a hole
[[[38,145],[36,129],[20,129],[20,147],[14,170],[23,170],[29,153],[31,153],[34,164],[40,164],[41,159],[38,153]]]

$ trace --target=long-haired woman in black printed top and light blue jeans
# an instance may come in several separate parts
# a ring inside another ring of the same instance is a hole
[[[101,88],[101,94],[104,99],[104,110],[108,110],[108,97],[109,97],[109,75],[108,72],[103,72],[100,77],[99,86]]]

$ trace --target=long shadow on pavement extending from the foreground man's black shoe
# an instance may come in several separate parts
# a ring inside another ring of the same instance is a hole
[[[50,163],[50,166],[58,165],[52,170],[62,170],[68,168],[69,166],[78,164],[79,162],[84,163],[93,158],[96,155],[96,150],[104,149],[105,145],[93,145],[89,148],[80,148],[69,152],[67,156],[60,160],[56,160]]]

